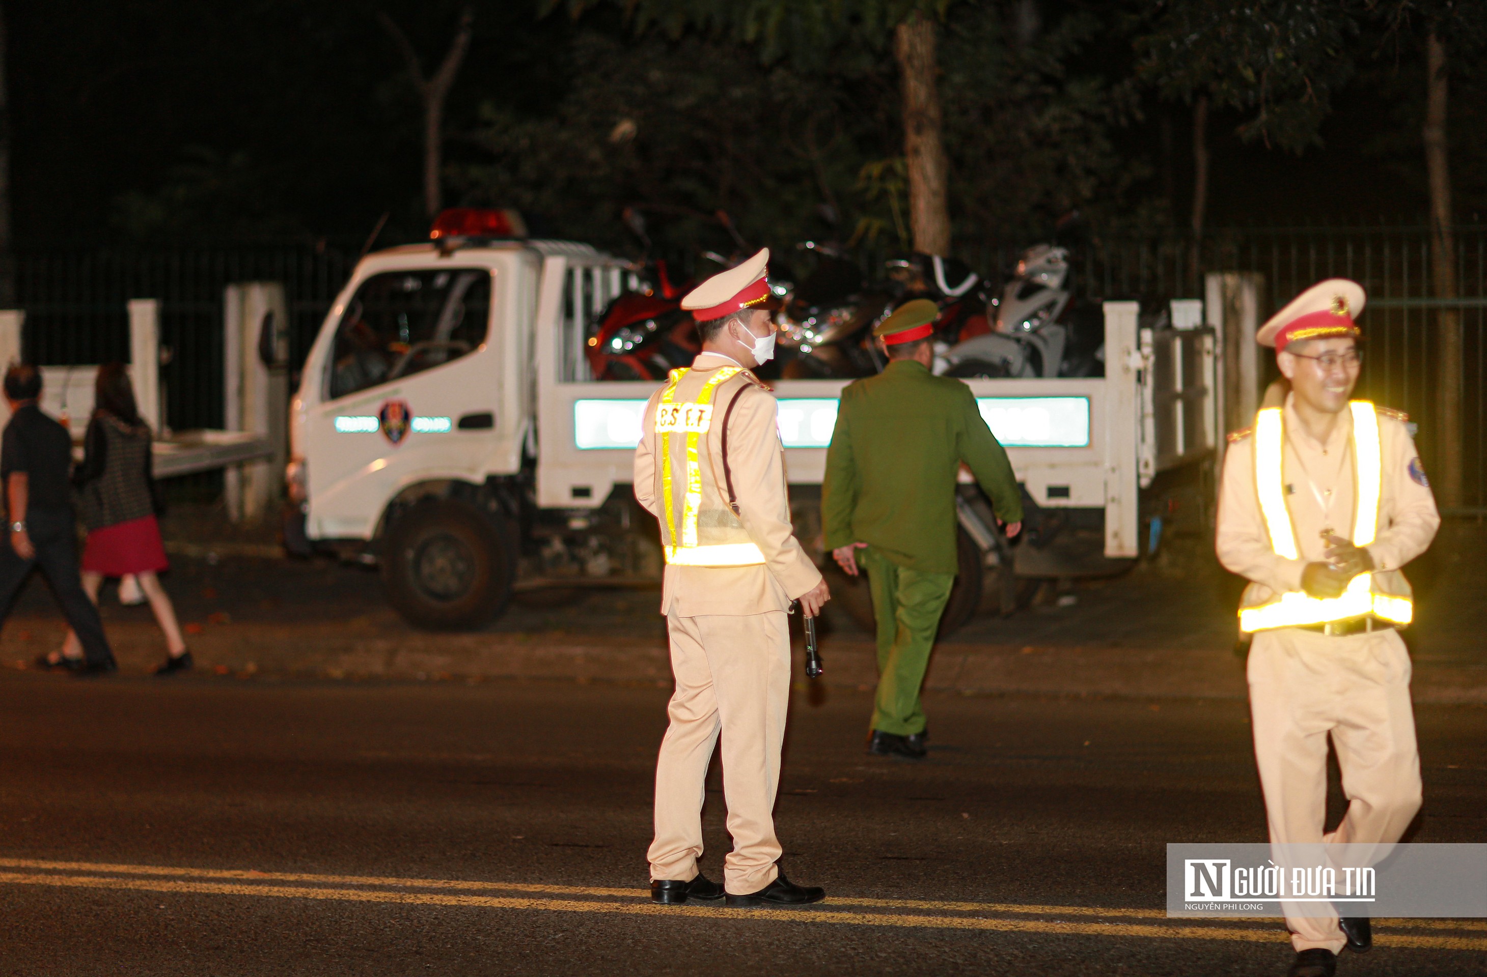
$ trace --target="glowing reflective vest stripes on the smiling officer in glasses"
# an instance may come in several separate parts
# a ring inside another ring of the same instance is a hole
[[[1353,416],[1353,545],[1367,546],[1378,533],[1378,499],[1383,491],[1383,447],[1378,438],[1378,414],[1368,401],[1349,404]],[[1259,511],[1270,533],[1270,548],[1286,560],[1300,560],[1295,527],[1286,508],[1285,422],[1279,407],[1259,411],[1255,420],[1255,491]],[[1340,597],[1312,597],[1304,591],[1289,591],[1259,607],[1239,612],[1242,631],[1294,628],[1328,624],[1374,615],[1393,624],[1410,624],[1414,607],[1408,597],[1381,594],[1374,589],[1373,573],[1359,573]]]

